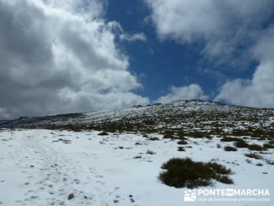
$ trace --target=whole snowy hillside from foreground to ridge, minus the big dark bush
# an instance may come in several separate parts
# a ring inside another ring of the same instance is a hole
[[[21,117],[0,122],[0,127],[0,205],[274,203],[271,109],[180,100],[114,111]],[[197,189],[264,189],[270,196],[233,203],[202,199],[186,203],[186,186],[159,179],[165,171],[163,163],[173,157],[218,163],[231,170],[229,176],[214,176],[209,185]]]

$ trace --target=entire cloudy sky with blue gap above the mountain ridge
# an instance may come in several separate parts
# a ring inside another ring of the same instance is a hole
[[[0,119],[178,99],[274,107],[272,0],[0,0]]]

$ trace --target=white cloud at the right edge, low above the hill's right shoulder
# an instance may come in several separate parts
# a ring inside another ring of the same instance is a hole
[[[262,32],[253,47],[253,56],[259,65],[251,80],[237,79],[226,82],[216,100],[232,104],[273,107],[274,106],[274,28]]]

